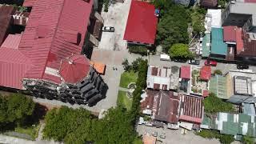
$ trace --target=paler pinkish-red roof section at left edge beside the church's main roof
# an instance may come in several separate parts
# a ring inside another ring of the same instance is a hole
[[[6,40],[2,43],[1,48],[18,49],[19,42],[21,42],[22,34],[9,34]]]

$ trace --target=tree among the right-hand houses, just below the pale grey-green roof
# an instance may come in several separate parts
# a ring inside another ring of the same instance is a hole
[[[223,102],[222,99],[216,97],[214,93],[210,93],[203,102],[206,114],[215,114],[218,112],[234,112],[234,106],[230,102]]]

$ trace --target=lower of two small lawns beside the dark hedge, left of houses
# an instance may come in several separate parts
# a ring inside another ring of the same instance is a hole
[[[127,110],[130,110],[131,105],[132,105],[133,100],[129,99],[126,96],[126,92],[125,91],[118,91],[118,105],[121,105],[123,107],[125,107]]]

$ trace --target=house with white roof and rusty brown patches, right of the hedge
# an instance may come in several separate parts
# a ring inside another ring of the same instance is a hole
[[[153,90],[178,90],[178,66],[149,66],[147,70],[147,88]]]

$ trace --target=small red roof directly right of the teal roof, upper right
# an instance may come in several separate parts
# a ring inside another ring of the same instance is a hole
[[[236,42],[237,26],[223,26],[223,38],[225,42]]]

